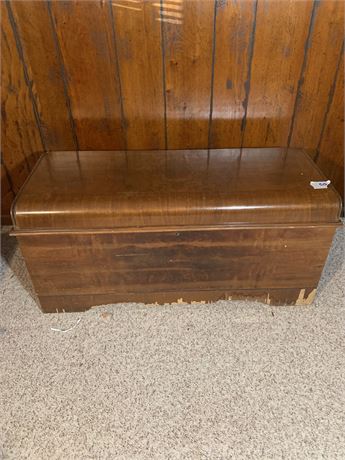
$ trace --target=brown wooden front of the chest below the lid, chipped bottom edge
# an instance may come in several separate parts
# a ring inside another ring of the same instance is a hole
[[[44,311],[256,298],[308,304],[335,226],[46,233],[19,242]]]

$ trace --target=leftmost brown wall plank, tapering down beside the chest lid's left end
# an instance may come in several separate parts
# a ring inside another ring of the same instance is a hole
[[[18,192],[43,150],[6,3],[1,2],[1,151]]]

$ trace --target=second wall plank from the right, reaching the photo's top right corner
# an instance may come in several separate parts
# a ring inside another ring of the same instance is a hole
[[[316,5],[290,142],[292,147],[312,149],[318,146],[344,39],[344,2],[327,0]]]

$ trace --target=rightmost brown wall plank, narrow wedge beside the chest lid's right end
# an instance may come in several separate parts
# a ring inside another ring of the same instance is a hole
[[[317,164],[344,196],[344,55],[326,118]]]

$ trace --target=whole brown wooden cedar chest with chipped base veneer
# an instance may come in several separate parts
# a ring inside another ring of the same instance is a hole
[[[311,303],[341,201],[301,150],[51,152],[12,209],[45,312]]]

